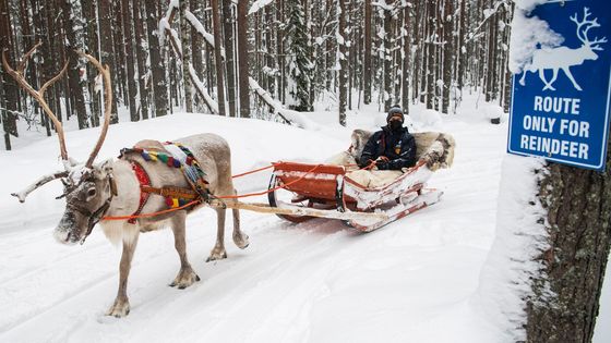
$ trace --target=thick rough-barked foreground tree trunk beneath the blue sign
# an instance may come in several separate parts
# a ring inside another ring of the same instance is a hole
[[[538,258],[544,273],[527,304],[527,342],[591,342],[611,246],[611,162],[604,173],[551,162],[548,171],[539,197],[550,248]]]

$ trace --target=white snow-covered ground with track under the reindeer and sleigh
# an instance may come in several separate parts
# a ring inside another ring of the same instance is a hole
[[[188,253],[202,280],[182,291],[168,286],[179,268],[171,232],[141,235],[123,319],[104,315],[117,291],[120,248],[98,228],[84,245],[53,241],[64,206],[53,199],[59,182],[25,204],[9,195],[61,169],[56,137],[17,142],[14,151],[0,151],[0,342],[503,342],[477,292],[494,240],[507,127],[491,125],[483,112],[442,118],[412,109],[416,130],[454,135],[455,164],[429,182],[444,191],[442,201],[379,231],[242,211],[250,246],[240,250],[227,240],[229,257],[206,264],[216,223],[204,209],[188,220]],[[99,156],[143,138],[214,132],[229,142],[237,174],[276,160],[323,161],[348,147],[352,128],[373,130],[384,118],[373,107],[354,111],[344,128],[336,115],[310,114],[314,130],[184,113],[121,123]],[[69,154],[84,160],[96,138],[95,128],[70,131]],[[261,191],[268,177],[244,176],[236,186]],[[597,342],[611,341],[601,328],[611,318],[609,289],[607,282]]]

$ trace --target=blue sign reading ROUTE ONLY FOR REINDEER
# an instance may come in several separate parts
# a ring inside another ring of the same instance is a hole
[[[531,16],[564,39],[514,75],[507,151],[604,170],[611,101],[611,1],[565,0]]]

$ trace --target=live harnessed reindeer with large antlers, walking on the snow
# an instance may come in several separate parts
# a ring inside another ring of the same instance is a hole
[[[125,154],[122,158],[110,159],[101,163],[94,164],[94,160],[104,143],[110,120],[110,109],[112,91],[110,85],[110,72],[108,66],[103,66],[95,58],[89,54],[79,52],[86,58],[100,72],[105,83],[105,113],[104,125],[100,136],[92,154],[84,164],[80,164],[68,157],[63,126],[57,119],[49,106],[45,101],[45,90],[59,79],[68,68],[64,64],[60,73],[43,85],[39,90],[34,89],[24,77],[24,70],[27,60],[34,53],[38,42],[21,60],[17,71],[14,71],[7,62],[5,53],[2,53],[2,63],[7,72],[34,97],[43,107],[45,113],[50,118],[59,137],[60,155],[63,171],[45,175],[34,184],[23,189],[16,196],[20,201],[25,201],[29,193],[44,184],[61,179],[64,184],[67,205],[64,213],[55,229],[55,237],[58,242],[74,245],[84,240],[92,232],[93,228],[99,222],[106,236],[118,244],[122,241],[122,256],[119,265],[119,290],[113,304],[106,313],[109,316],[124,317],[130,313],[127,285],[132,257],[137,244],[139,234],[164,226],[171,226],[175,236],[175,247],[180,258],[180,270],[170,286],[185,289],[194,282],[200,281],[200,277],[192,269],[187,258],[185,249],[185,218],[187,215],[203,206],[203,204],[191,206],[190,208],[164,213],[157,217],[146,217],[130,223],[123,221],[105,221],[105,217],[129,216],[139,209],[141,197],[141,185],[134,174],[133,166],[137,163],[148,175],[151,185],[189,188],[189,182],[182,172],[177,168],[168,168],[164,163],[146,162],[137,154]],[[208,182],[207,191],[211,196],[235,195],[231,181],[231,157],[227,142],[214,134],[200,134],[177,139],[177,142],[189,147],[194,157],[199,160]],[[139,142],[135,147],[155,148],[163,150],[164,146],[156,140]],[[227,200],[235,201],[231,199]],[[151,195],[141,208],[143,213],[155,212],[166,209],[163,197]],[[215,206],[217,215],[217,237],[216,244],[211,252],[207,261],[223,259],[227,257],[224,235],[225,235],[225,207],[217,204]],[[240,219],[238,209],[232,210],[233,215],[233,242],[240,248],[249,245],[248,235],[240,231]]]

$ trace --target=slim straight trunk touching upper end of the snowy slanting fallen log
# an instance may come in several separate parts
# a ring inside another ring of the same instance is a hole
[[[238,2],[238,65],[240,86],[240,117],[250,118],[249,96],[249,45],[248,45],[248,4],[249,0]]]

